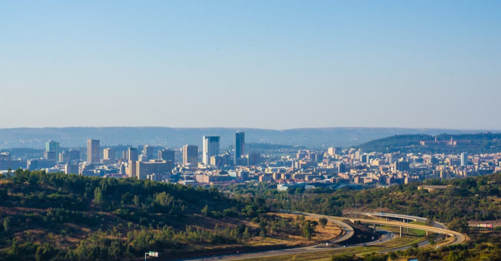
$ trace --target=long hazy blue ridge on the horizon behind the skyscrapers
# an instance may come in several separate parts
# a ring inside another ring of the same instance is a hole
[[[101,145],[161,145],[181,147],[195,144],[201,148],[203,135],[221,136],[223,148],[233,144],[235,131],[245,131],[245,142],[299,145],[310,148],[354,146],[373,139],[397,134],[471,133],[484,130],[453,130],[424,128],[329,127],[296,129],[259,128],[171,128],[171,127],[44,127],[0,128],[0,148],[44,148],[45,141],[57,140],[61,147],[86,146],[88,138],[101,139]]]

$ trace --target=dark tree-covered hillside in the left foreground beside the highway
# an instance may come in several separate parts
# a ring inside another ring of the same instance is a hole
[[[129,259],[231,244],[256,216],[217,189],[17,170],[0,178],[0,260]],[[263,209],[264,212],[267,209]]]

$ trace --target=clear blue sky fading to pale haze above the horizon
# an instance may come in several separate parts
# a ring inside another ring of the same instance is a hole
[[[501,1],[0,1],[0,127],[501,129]]]

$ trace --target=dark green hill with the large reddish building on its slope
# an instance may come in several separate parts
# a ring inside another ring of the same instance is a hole
[[[429,142],[421,145],[420,141],[434,141],[435,137],[441,143]],[[450,138],[458,143],[448,145]],[[363,151],[377,152],[422,152],[422,153],[489,153],[501,151],[501,133],[474,133],[474,134],[405,134],[393,135],[375,139],[356,146]]]

